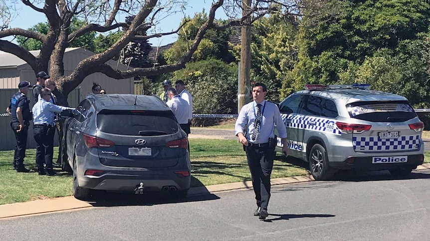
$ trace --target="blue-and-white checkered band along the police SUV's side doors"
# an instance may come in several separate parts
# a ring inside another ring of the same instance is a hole
[[[340,135],[341,132],[337,128],[336,123],[331,119],[321,118],[321,117],[311,117],[305,115],[286,115],[282,114],[282,119],[284,122],[288,121],[289,128],[298,128],[313,131],[323,131],[332,133],[335,135]],[[314,124],[309,124],[313,122]]]

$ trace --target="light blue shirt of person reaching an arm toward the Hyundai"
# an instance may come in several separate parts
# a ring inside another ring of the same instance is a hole
[[[56,113],[60,113],[63,110],[74,109],[59,105],[54,105],[50,101],[46,101],[43,98],[39,98],[33,106],[33,124],[48,124],[55,125],[54,118]]]

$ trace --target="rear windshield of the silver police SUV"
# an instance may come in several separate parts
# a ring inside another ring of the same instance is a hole
[[[346,108],[352,118],[372,122],[403,122],[417,117],[406,100],[355,102]]]

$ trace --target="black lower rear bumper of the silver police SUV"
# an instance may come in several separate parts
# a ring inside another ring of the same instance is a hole
[[[388,170],[405,167],[415,169],[418,165],[423,164],[423,159],[420,161],[420,156],[422,155],[406,155],[407,162],[396,162],[388,159],[392,156],[382,157],[381,155],[382,160],[385,162],[378,161],[377,163],[373,163],[374,157],[356,157],[353,158],[353,161],[351,158],[346,161],[330,162],[330,168],[342,170]]]

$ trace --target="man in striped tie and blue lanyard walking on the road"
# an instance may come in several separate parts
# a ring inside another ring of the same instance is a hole
[[[266,100],[266,85],[252,85],[254,101],[244,105],[235,124],[235,135],[243,145],[251,172],[252,186],[257,201],[254,216],[265,219],[270,199],[270,174],[275,157],[276,138],[274,126],[282,140],[282,153],[288,156],[287,133],[278,107]]]

